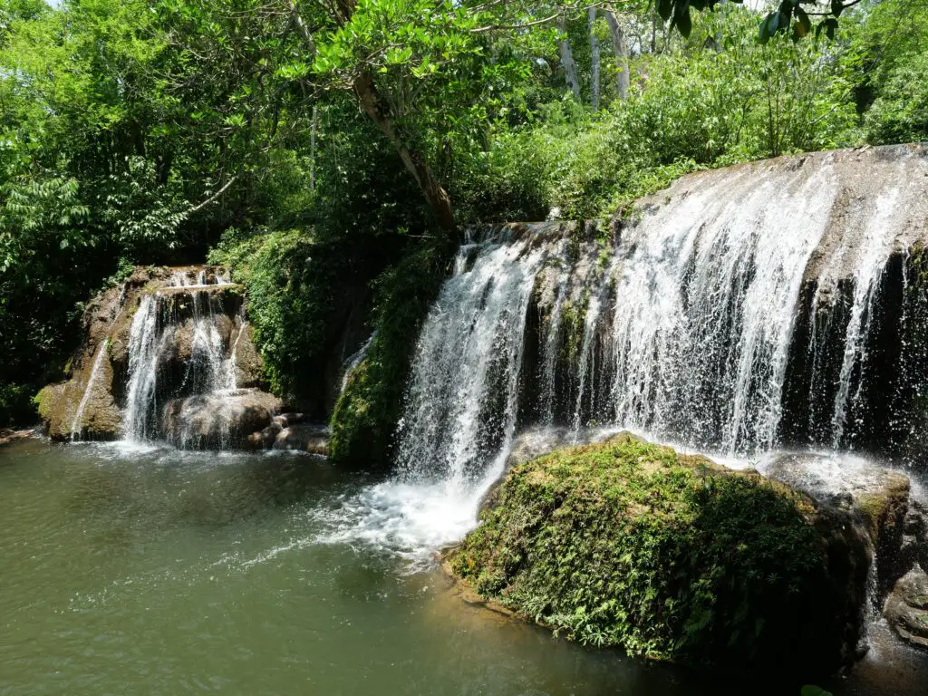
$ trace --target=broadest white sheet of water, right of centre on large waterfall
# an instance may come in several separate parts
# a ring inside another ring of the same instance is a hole
[[[836,194],[827,166],[730,174],[645,219],[616,290],[615,422],[722,452],[773,445],[798,290]]]

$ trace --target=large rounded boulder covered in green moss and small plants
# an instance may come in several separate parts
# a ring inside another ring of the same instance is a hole
[[[569,638],[804,677],[854,659],[870,540],[849,512],[627,433],[514,466],[497,501],[452,571]]]

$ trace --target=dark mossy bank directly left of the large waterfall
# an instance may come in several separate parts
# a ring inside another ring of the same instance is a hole
[[[330,457],[336,463],[389,465],[419,328],[445,279],[450,251],[446,242],[426,244],[377,278],[374,341],[330,420]]]

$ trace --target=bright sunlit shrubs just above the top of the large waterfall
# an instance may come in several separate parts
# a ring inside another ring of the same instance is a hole
[[[599,114],[573,99],[549,104],[534,128],[494,143],[513,153],[496,161],[532,153],[516,175],[547,172],[548,206],[576,219],[620,212],[693,170],[849,144],[853,105],[831,85],[826,47],[779,36],[758,46],[753,21],[742,11],[701,19],[700,38],[638,59],[627,100]],[[718,31],[721,51],[701,40]]]

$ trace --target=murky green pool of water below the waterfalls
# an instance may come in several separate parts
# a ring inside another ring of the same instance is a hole
[[[586,649],[467,603],[395,534],[333,535],[375,483],[301,456],[0,447],[0,694],[798,693]],[[928,693],[925,661],[879,652],[826,686]]]

